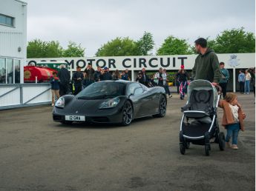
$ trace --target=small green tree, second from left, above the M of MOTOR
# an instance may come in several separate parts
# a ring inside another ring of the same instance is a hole
[[[63,50],[63,57],[83,57],[85,56],[85,48],[81,44],[77,45],[73,41],[68,42],[68,49]]]

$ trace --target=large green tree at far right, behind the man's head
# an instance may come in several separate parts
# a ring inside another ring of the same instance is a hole
[[[244,28],[224,30],[211,44],[215,53],[255,53],[255,34]]]

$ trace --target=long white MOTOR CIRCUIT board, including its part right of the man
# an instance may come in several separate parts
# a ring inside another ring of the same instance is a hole
[[[217,54],[219,61],[226,63],[226,68],[248,68],[255,67],[255,53]],[[92,64],[93,68],[108,67],[110,70],[158,70],[159,67],[166,70],[179,70],[181,65],[186,70],[194,67],[197,55],[179,56],[111,56],[90,58],[27,58],[27,64],[36,64],[38,61],[65,61],[70,71],[75,71],[76,66],[82,70]]]

